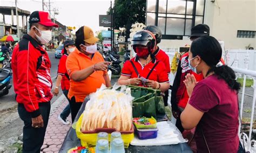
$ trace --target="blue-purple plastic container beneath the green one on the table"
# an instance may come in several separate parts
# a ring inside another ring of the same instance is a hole
[[[156,138],[157,137],[157,131],[158,129],[137,129],[135,130],[136,135],[140,140],[146,140],[150,138]]]

